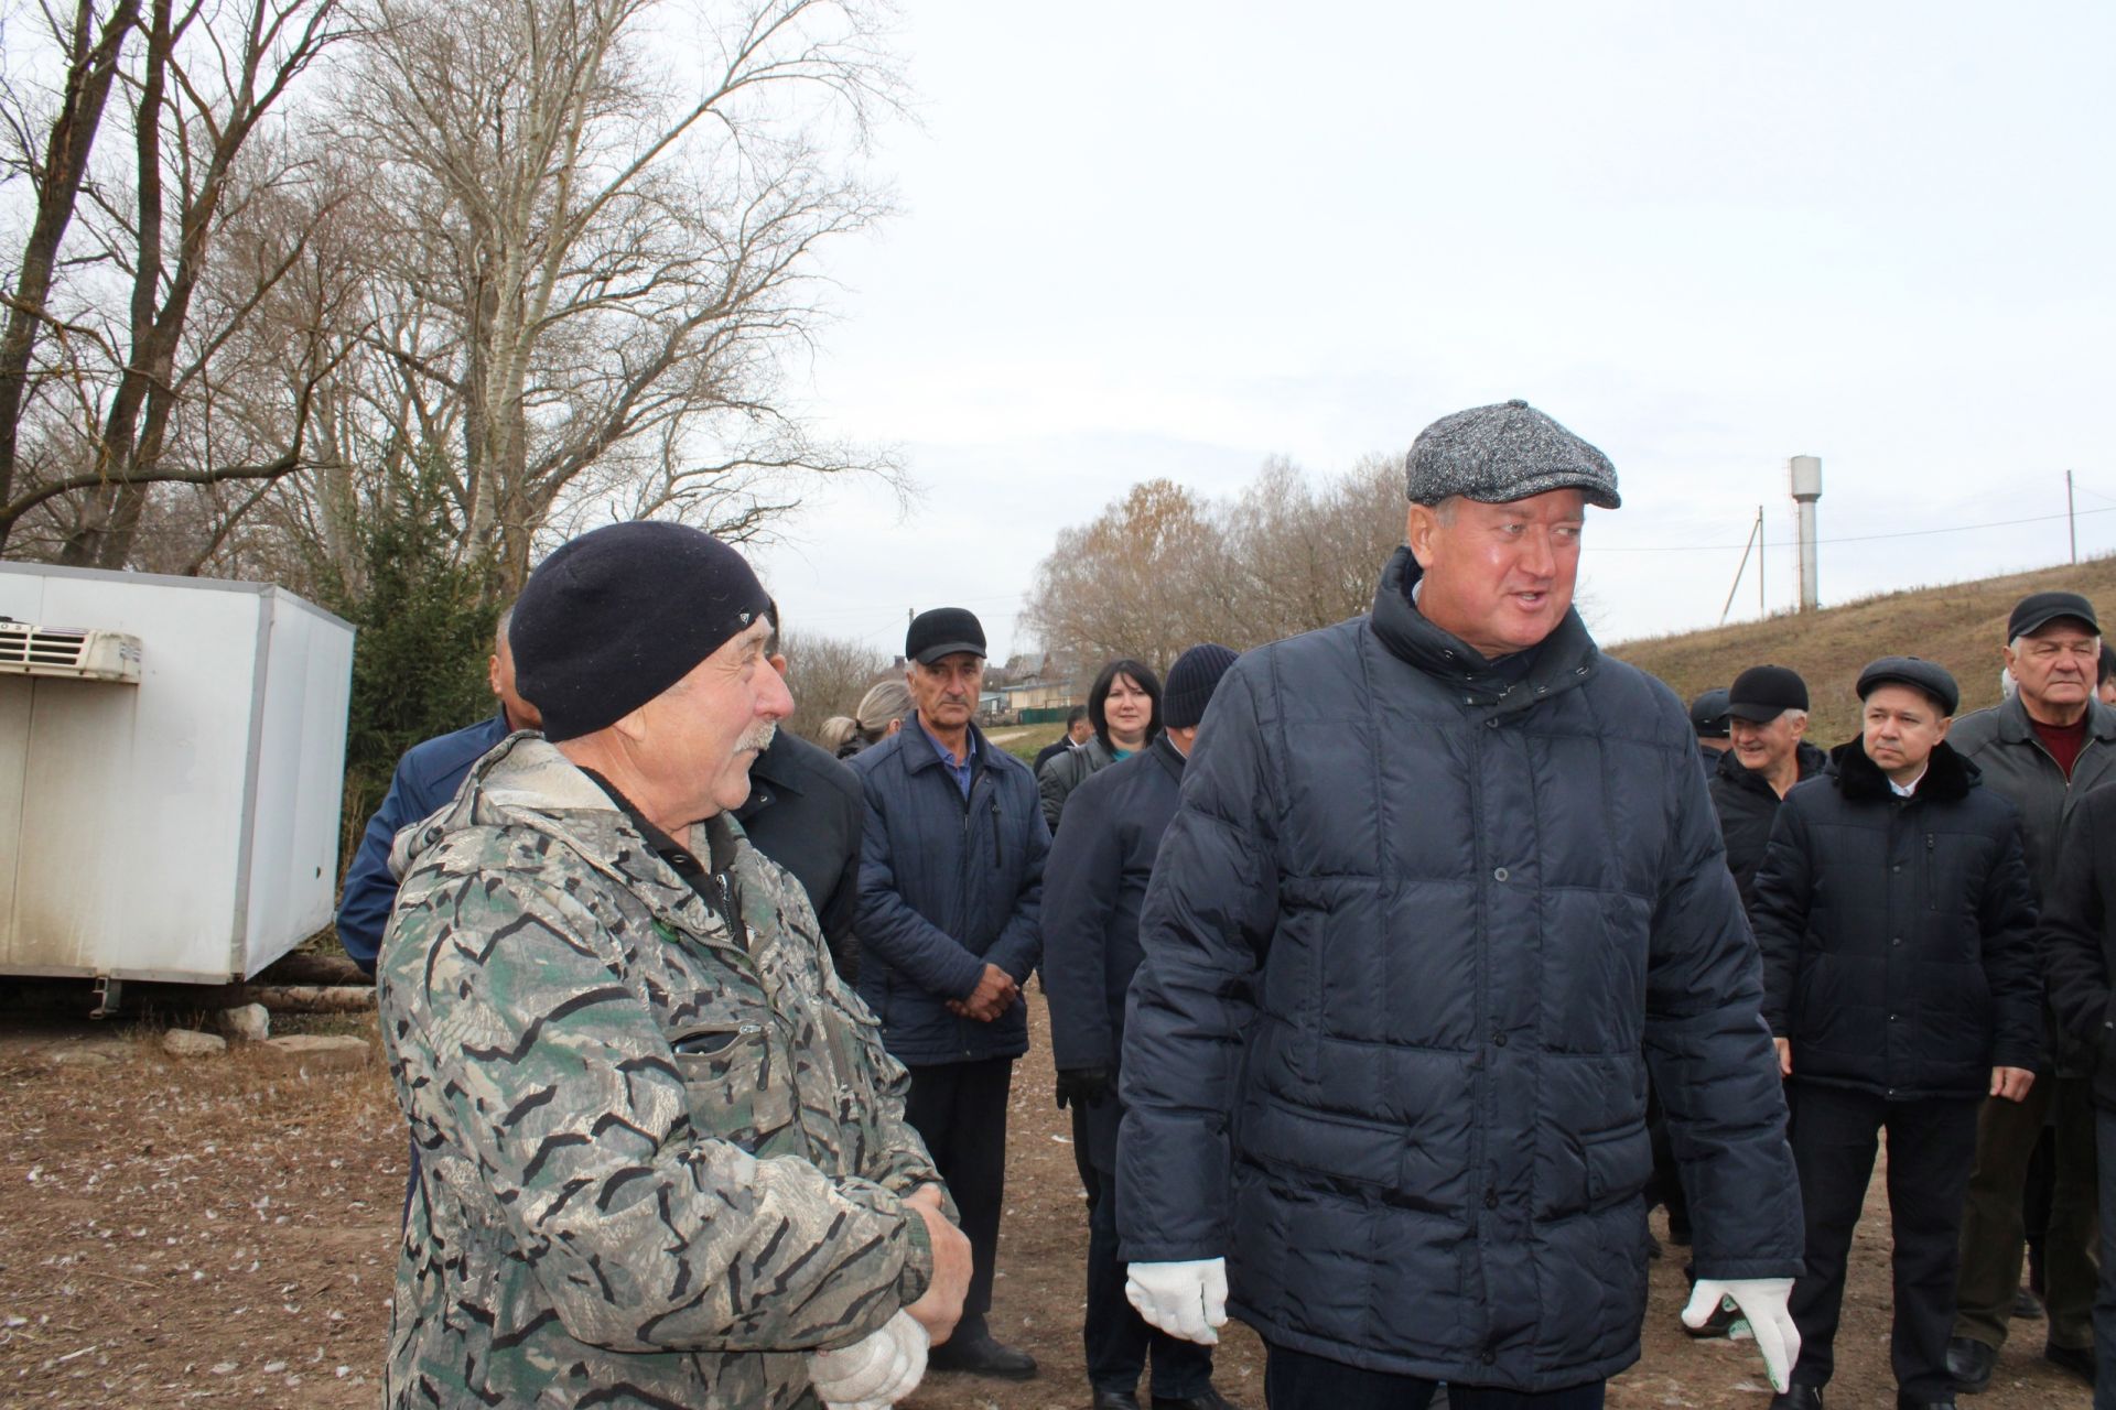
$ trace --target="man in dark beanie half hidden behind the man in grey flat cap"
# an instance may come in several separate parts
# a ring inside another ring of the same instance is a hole
[[[1088,776],[1066,797],[1043,888],[1043,991],[1052,1010],[1058,1106],[1073,1106],[1073,1148],[1088,1182],[1088,1387],[1094,1410],[1138,1410],[1153,1359],[1155,1410],[1227,1410],[1212,1389],[1212,1351],[1168,1336],[1124,1300],[1117,1258],[1117,1059],[1124,998],[1138,968],[1138,907],[1162,833],[1176,812],[1183,765],[1234,651],[1196,645],[1168,668],[1162,734]]]

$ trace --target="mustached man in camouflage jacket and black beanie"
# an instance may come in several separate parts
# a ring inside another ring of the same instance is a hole
[[[728,820],[791,710],[679,524],[565,543],[516,734],[396,841],[379,1002],[419,1146],[389,1406],[897,1399],[969,1247],[800,884]]]

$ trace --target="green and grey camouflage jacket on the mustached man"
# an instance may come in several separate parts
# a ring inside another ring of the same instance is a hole
[[[910,1080],[800,886],[719,827],[747,947],[540,736],[400,833],[377,981],[421,1169],[387,1406],[813,1406],[804,1353],[925,1292]]]

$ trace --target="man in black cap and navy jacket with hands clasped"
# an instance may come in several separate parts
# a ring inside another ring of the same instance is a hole
[[[904,638],[912,719],[853,755],[868,799],[859,994],[912,1070],[910,1120],[963,1209],[975,1277],[935,1370],[1026,1380],[1035,1359],[988,1328],[1007,1177],[1007,1091],[1028,1051],[1022,985],[1043,953],[1050,829],[1028,765],[978,729],[984,626],[918,613]]]

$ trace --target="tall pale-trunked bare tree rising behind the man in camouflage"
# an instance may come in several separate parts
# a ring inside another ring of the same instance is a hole
[[[728,537],[787,480],[893,469],[813,440],[781,359],[817,326],[819,241],[880,199],[857,152],[895,70],[857,0],[372,0],[343,106],[370,175],[366,410],[442,446],[499,592],[546,526],[669,514]],[[705,80],[658,55],[703,32]],[[683,36],[686,40],[690,36]]]

